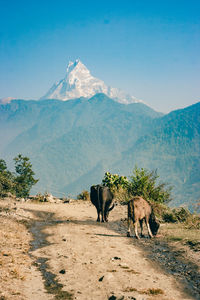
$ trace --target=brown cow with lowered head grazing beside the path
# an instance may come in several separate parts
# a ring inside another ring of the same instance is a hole
[[[150,204],[144,200],[142,197],[135,196],[128,202],[128,231],[127,236],[130,237],[130,221],[133,221],[135,236],[139,239],[137,226],[138,222],[140,222],[141,228],[141,237],[143,236],[143,221],[145,220],[149,237],[152,238],[157,234],[160,224],[156,222],[155,215],[153,209]]]

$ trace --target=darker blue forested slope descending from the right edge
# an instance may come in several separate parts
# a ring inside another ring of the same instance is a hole
[[[115,170],[129,173],[129,164],[158,169],[174,186],[174,204],[200,199],[200,103],[176,110],[153,122],[152,131],[125,151]]]

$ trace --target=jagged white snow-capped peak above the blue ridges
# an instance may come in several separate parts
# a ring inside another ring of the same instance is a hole
[[[90,98],[104,93],[117,102],[129,104],[142,102],[125,92],[107,86],[102,80],[93,77],[87,67],[79,60],[70,61],[64,79],[55,83],[41,99],[69,100],[79,97]]]

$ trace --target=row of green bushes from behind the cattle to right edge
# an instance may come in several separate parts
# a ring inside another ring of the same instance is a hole
[[[133,175],[128,180],[125,176],[106,172],[102,184],[108,186],[115,194],[115,200],[125,204],[133,196],[142,196],[151,203],[154,213],[160,222],[182,223],[185,228],[200,229],[200,217],[191,214],[185,207],[170,208],[171,187],[157,183],[156,171],[139,169],[135,166]]]

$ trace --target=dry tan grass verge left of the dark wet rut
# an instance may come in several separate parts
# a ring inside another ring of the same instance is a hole
[[[24,299],[23,281],[31,266],[30,237],[9,206],[3,204],[0,208],[0,299]]]

